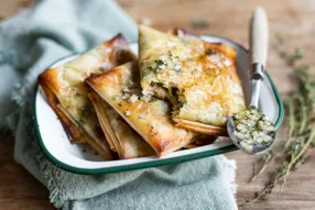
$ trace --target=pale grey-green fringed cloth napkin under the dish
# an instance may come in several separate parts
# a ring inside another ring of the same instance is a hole
[[[14,158],[62,209],[237,209],[235,163],[224,156],[107,175],[77,175],[51,164],[34,135],[36,77],[47,65],[135,23],[111,0],[42,0],[0,23],[0,123],[15,135]]]

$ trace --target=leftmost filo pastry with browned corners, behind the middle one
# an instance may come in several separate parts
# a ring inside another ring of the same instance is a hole
[[[127,41],[122,35],[117,35],[78,58],[39,76],[39,84],[72,143],[86,142],[104,158],[112,159],[112,152],[88,99],[90,89],[85,79],[133,59]]]

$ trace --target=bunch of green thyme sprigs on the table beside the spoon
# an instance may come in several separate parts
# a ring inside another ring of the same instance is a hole
[[[293,54],[289,55],[286,52],[281,51],[284,38],[279,34],[276,34],[275,38],[278,44],[274,48],[294,71],[298,88],[296,91],[291,92],[289,99],[285,101],[289,113],[285,119],[289,121],[289,132],[284,147],[267,153],[258,162],[262,163],[262,166],[254,173],[250,181],[261,175],[273,163],[276,156],[282,157],[282,164],[273,179],[261,191],[257,192],[253,199],[246,199],[247,203],[242,207],[248,208],[252,203],[268,197],[276,185],[281,185],[280,195],[290,173],[306,159],[308,150],[315,147],[315,82],[311,80],[312,77],[308,73],[309,65],[298,64],[298,60],[304,57],[302,49],[295,48]]]

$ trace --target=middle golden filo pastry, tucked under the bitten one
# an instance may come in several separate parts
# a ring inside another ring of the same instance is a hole
[[[189,144],[196,135],[174,126],[167,102],[141,95],[138,62],[93,75],[86,81],[160,157]]]

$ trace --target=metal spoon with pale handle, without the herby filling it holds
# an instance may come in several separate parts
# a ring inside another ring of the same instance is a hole
[[[250,107],[258,108],[260,86],[263,80],[263,71],[267,60],[268,51],[268,20],[263,8],[257,8],[252,13],[250,24],[250,55],[251,55],[251,100]],[[236,136],[236,125],[232,117],[229,117],[227,123],[228,134],[237,147],[248,154],[264,153],[274,142],[268,144],[256,144],[252,148],[245,148],[240,142],[243,141]],[[275,133],[274,133],[275,134]]]

